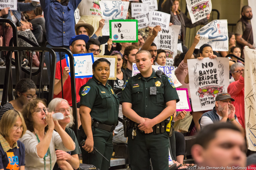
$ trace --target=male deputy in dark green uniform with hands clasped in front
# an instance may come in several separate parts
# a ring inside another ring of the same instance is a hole
[[[176,111],[180,99],[172,80],[153,71],[148,51],[138,51],[135,59],[140,73],[126,81],[120,100],[123,114],[131,120],[131,170],[149,169],[150,158],[154,170],[168,170],[169,135],[165,120]]]

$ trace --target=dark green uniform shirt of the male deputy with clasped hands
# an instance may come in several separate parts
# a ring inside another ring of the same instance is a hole
[[[156,87],[155,94],[150,94],[150,87]],[[147,79],[139,73],[127,80],[120,103],[131,103],[132,110],[139,116],[153,119],[166,108],[166,102],[171,100],[180,101],[174,83],[165,75],[162,75],[161,81],[153,71]]]

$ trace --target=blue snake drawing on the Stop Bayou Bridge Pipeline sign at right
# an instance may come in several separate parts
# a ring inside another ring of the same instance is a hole
[[[200,35],[206,35],[208,32],[210,31],[210,33],[208,34],[208,39],[209,40],[214,40],[214,41],[226,41],[228,40],[228,37],[224,34],[217,34],[217,35],[213,35],[214,33],[216,33],[218,30],[215,26],[209,26],[206,28],[201,28],[198,31],[198,34]]]

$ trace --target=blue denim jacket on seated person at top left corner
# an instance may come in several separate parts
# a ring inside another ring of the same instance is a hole
[[[13,15],[21,22],[21,11],[32,11],[36,8],[32,3],[17,3],[17,10],[11,10]],[[12,20],[11,12],[8,11],[7,19]],[[16,23],[15,23],[16,24]],[[17,25],[20,26],[20,25]]]

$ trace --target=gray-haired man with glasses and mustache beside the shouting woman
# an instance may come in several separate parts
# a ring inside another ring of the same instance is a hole
[[[57,155],[57,162],[54,165],[53,170],[71,170],[71,169],[78,169],[80,162],[79,162],[79,154],[81,154],[81,149],[76,139],[76,135],[72,129],[74,124],[72,109],[67,100],[62,98],[55,98],[48,105],[49,111],[53,111],[54,113],[60,112],[63,114],[64,119],[59,120],[60,126],[67,132],[73,141],[76,144],[75,150],[71,152],[65,152],[63,150],[56,150]]]

